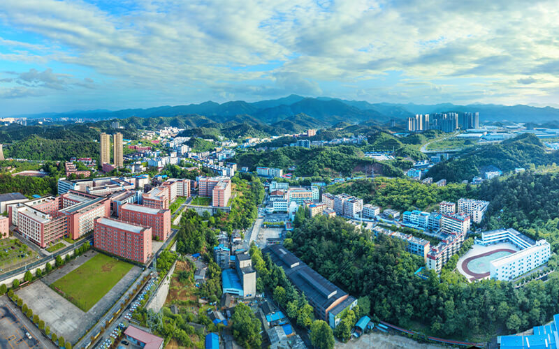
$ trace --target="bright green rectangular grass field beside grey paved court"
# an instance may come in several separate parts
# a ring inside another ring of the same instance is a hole
[[[66,299],[88,311],[122,279],[133,265],[101,253],[52,283]]]

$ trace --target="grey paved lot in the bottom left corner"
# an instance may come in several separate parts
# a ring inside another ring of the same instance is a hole
[[[31,339],[25,335],[29,332]],[[0,297],[0,348],[55,348],[30,320],[11,304],[7,296]]]

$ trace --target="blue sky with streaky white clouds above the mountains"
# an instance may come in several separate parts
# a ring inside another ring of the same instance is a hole
[[[0,115],[289,94],[558,105],[557,5],[1,0]]]

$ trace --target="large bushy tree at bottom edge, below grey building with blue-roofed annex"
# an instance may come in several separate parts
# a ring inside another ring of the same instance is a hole
[[[262,343],[260,321],[256,319],[249,306],[242,303],[235,306],[231,322],[233,322],[231,327],[233,337],[243,348],[260,348]]]

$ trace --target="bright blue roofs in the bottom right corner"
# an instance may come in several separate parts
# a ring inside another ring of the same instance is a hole
[[[553,322],[535,326],[534,334],[529,336],[500,336],[497,342],[501,349],[558,349],[559,314],[553,315]]]

